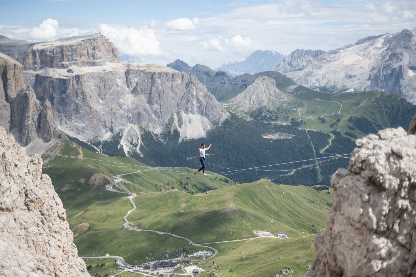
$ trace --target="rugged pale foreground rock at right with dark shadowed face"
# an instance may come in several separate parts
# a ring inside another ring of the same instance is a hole
[[[415,164],[416,136],[401,128],[357,140],[348,170],[332,177],[332,210],[305,276],[416,276]]]

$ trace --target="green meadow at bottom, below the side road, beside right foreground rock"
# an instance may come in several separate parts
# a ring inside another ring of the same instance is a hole
[[[215,266],[211,260],[200,262],[199,265],[206,268],[200,276],[208,277],[216,272],[223,277],[273,277],[276,273],[281,275],[280,270],[285,267],[293,269],[290,275],[303,276],[307,271],[306,266],[312,265],[315,260],[313,237],[292,237],[288,240],[259,238],[212,244],[210,246],[220,251],[213,259]],[[216,266],[219,266],[218,270],[214,269]]]

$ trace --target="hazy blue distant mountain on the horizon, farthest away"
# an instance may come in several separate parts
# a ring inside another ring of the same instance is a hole
[[[255,74],[258,72],[272,70],[277,64],[279,64],[285,55],[276,51],[270,50],[257,50],[253,52],[249,57],[245,58],[241,62],[230,62],[223,64],[216,70],[223,70],[227,74],[236,77],[245,73]]]

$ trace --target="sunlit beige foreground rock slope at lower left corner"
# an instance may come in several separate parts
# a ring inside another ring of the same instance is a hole
[[[0,276],[89,277],[42,158],[0,126]]]

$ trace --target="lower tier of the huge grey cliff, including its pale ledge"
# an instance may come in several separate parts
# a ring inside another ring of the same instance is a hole
[[[167,126],[183,139],[199,138],[225,114],[195,77],[169,67],[106,63],[70,69],[42,69],[31,85],[41,103],[50,101],[59,129],[77,138],[104,138],[121,129],[139,137],[139,127]],[[175,116],[181,117],[177,124]]]

